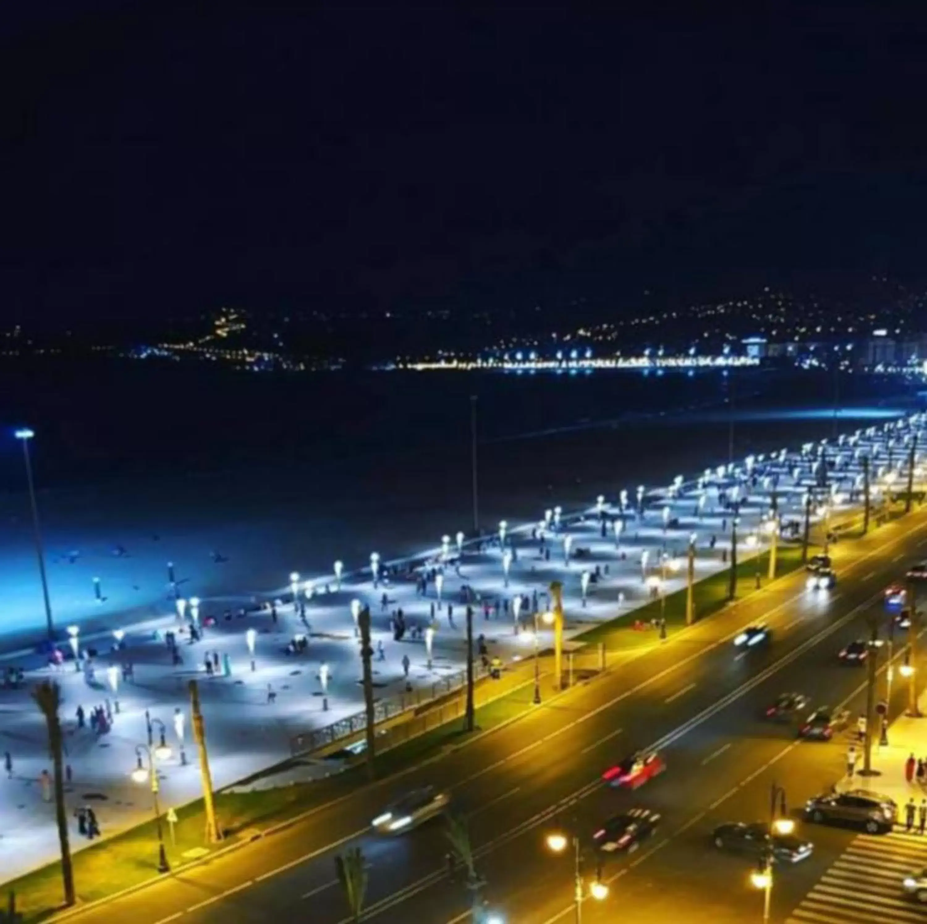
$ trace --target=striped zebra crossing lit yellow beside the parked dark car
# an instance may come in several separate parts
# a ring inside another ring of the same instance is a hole
[[[901,882],[927,866],[927,837],[861,834],[786,919],[786,924],[927,924],[927,905]]]

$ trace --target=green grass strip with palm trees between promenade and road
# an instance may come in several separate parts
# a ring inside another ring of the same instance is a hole
[[[801,567],[801,549],[781,545],[778,574],[783,576]],[[756,575],[766,584],[768,553],[738,564],[737,596],[742,598],[756,590]],[[716,613],[728,601],[730,572],[720,571],[695,585],[695,612],[699,619]],[[665,614],[667,631],[685,624],[685,590],[667,596]],[[579,641],[604,642],[609,652],[632,650],[654,643],[654,631],[634,631],[635,620],[647,622],[660,615],[660,603],[654,601],[629,611],[578,637]],[[491,681],[488,681],[491,682]],[[525,684],[476,710],[476,726],[485,732],[524,715],[532,707],[533,688]],[[380,754],[377,774],[386,778],[443,749],[464,743],[462,718],[456,718]],[[260,776],[260,775],[259,775]],[[226,840],[217,847],[203,844],[206,821],[202,801],[176,809],[178,821],[165,825],[165,846],[171,867],[179,867],[214,850],[248,841],[262,829],[273,827],[287,818],[298,816],[313,807],[324,805],[363,784],[366,770],[362,765],[331,777],[309,783],[297,783],[263,791],[228,793],[216,796],[217,815],[225,829]],[[171,831],[172,827],[172,831]],[[192,852],[192,853],[191,853]],[[105,898],[147,880],[157,880],[158,843],[154,821],[124,831],[73,855],[74,881],[81,904]],[[3,891],[14,890],[25,921],[48,918],[60,909],[61,878],[57,863],[7,882]]]

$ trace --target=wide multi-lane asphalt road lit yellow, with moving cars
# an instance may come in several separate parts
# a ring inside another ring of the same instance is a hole
[[[715,855],[708,832],[723,820],[764,816],[773,778],[786,786],[790,804],[829,785],[840,775],[845,742],[796,745],[787,728],[769,727],[757,715],[782,690],[836,702],[861,689],[863,672],[837,665],[835,652],[863,635],[866,614],[873,607],[881,611],[884,586],[925,545],[927,511],[919,511],[852,550],[838,546],[837,589],[811,593],[802,575],[784,578],[641,654],[619,673],[550,698],[524,719],[401,780],[378,782],[259,845],[79,919],[195,924],[298,914],[341,924],[346,906],[333,854],[358,843],[370,864],[364,920],[464,920],[468,897],[446,878],[440,824],[393,840],[369,830],[391,797],[439,782],[451,789],[456,807],[471,814],[487,896],[509,921],[570,919],[572,865],[545,853],[544,832],[575,825],[588,836],[604,817],[631,804],[660,809],[664,827],[653,846],[605,867],[606,878],[616,877],[612,894],[601,905],[586,903],[587,924],[613,920],[627,903],[641,920],[680,919],[683,912],[692,917],[695,908],[705,911],[699,919],[759,920],[762,900],[747,884],[748,867]],[[738,657],[731,639],[761,618],[773,630],[772,643]],[[850,704],[858,709],[857,701]],[[634,796],[599,785],[610,762],[653,744],[669,764],[663,777]],[[813,830],[815,856],[778,877],[774,919],[791,912],[853,836]]]

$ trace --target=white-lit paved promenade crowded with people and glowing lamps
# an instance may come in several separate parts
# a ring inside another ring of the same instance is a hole
[[[381,549],[371,562],[345,563],[340,578],[284,573],[263,594],[198,603],[195,587],[169,587],[155,618],[115,615],[105,628],[75,627],[70,636],[59,627],[63,663],[50,665],[38,652],[10,652],[0,662],[7,681],[0,752],[11,760],[0,780],[5,878],[57,858],[44,721],[29,692],[37,681],[54,679],[62,691],[69,814],[92,806],[106,837],[150,817],[150,793],[131,772],[137,746],[158,745],[162,734],[171,747],[158,762],[164,810],[199,796],[190,678],[201,681],[210,766],[221,789],[285,760],[298,736],[362,711],[359,605],[372,615],[377,698],[398,702],[410,689],[426,696],[464,669],[468,604],[487,658],[506,666],[534,651],[536,622],[541,649],[551,646],[551,630],[535,614],[549,609],[554,580],[564,587],[567,638],[617,616],[631,623],[654,594],[685,586],[690,542],[696,579],[727,567],[735,517],[741,560],[768,548],[773,506],[782,537],[801,540],[809,489],[811,521],[839,525],[861,502],[864,459],[878,512],[886,493],[905,489],[908,441],[923,426],[918,416],[680,475],[670,486],[629,487],[591,499],[582,512],[512,519],[480,539],[456,531],[443,538],[438,529],[420,556],[395,562]],[[35,592],[39,605],[37,579]],[[658,638],[655,628],[647,631]],[[21,682],[11,668],[22,669]],[[97,707],[104,719],[92,725]],[[80,849],[89,842],[74,825],[72,848]]]

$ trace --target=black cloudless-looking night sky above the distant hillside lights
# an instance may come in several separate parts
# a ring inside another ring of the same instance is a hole
[[[261,6],[6,19],[0,317],[922,274],[917,4]]]

